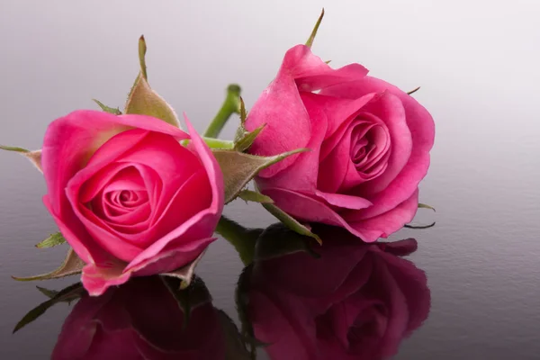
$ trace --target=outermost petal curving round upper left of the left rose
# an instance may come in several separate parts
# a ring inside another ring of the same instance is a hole
[[[184,131],[155,118],[141,115],[116,116],[97,111],[71,112],[51,122],[45,133],[41,166],[48,188],[46,206],[58,227],[63,228],[62,233],[67,242],[86,263],[99,262],[107,256],[100,247],[90,244],[92,238],[84,233],[84,228],[76,219],[65,193],[67,182],[86,165],[96,148],[112,136],[132,127],[163,132],[176,139],[188,138]]]

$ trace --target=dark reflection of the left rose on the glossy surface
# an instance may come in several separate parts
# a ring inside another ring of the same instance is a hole
[[[224,336],[210,296],[190,311],[186,323],[158,276],[133,279],[102,296],[85,295],[64,322],[51,359],[224,358]]]

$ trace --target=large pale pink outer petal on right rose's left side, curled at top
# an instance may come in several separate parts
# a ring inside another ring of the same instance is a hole
[[[250,152],[270,156],[306,147],[311,139],[311,121],[299,92],[311,92],[325,86],[360,79],[366,74],[365,67],[359,64],[333,69],[313,55],[311,49],[305,45],[289,49],[275,80],[261,94],[247,116],[247,130],[253,131],[266,124]],[[287,157],[259,175],[276,175],[291,166],[297,157]]]

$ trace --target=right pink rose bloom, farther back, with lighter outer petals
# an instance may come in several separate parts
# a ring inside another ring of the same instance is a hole
[[[340,226],[373,242],[414,217],[435,127],[410,95],[366,74],[358,64],[332,69],[297,45],[246,128],[266,123],[254,154],[312,150],[261,172],[262,193],[297,220]]]

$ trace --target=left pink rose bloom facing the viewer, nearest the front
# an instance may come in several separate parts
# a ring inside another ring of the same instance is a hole
[[[186,122],[191,136],[149,116],[96,111],[49,125],[43,202],[85,262],[82,282],[92,295],[132,275],[185,266],[214,240],[223,178]]]

